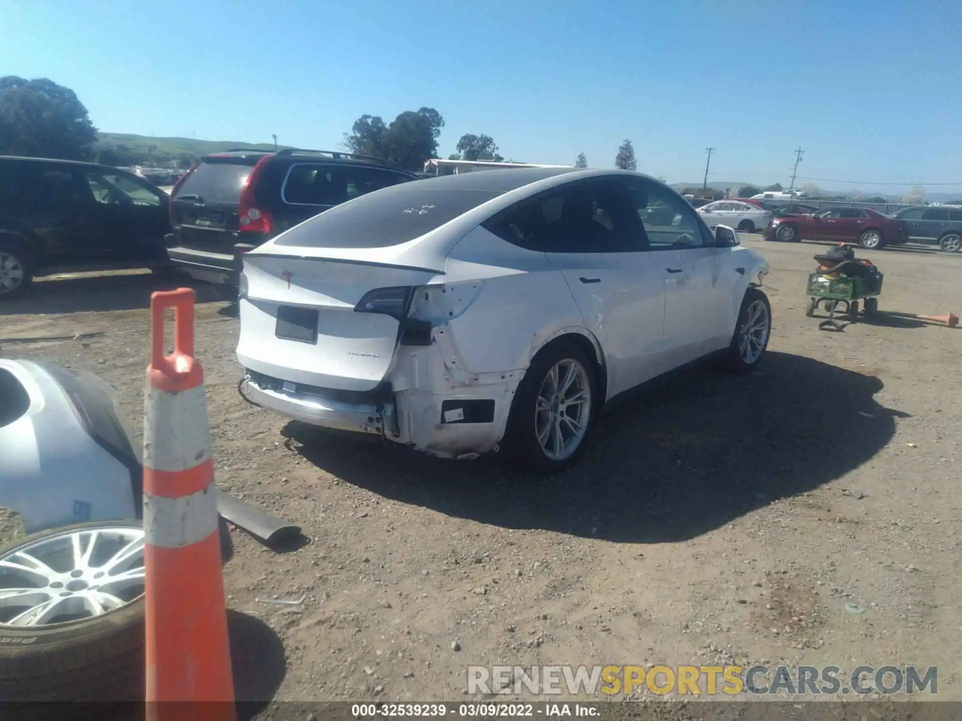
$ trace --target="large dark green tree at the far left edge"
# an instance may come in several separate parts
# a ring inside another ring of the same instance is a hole
[[[69,87],[0,78],[0,155],[84,161],[96,139],[87,108]]]

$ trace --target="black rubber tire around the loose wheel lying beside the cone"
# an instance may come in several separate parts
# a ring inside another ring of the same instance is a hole
[[[140,528],[141,524],[78,523],[21,537],[0,549],[0,554],[40,538],[108,526]],[[119,609],[78,621],[34,627],[0,624],[0,700],[142,701],[143,614],[141,595]]]

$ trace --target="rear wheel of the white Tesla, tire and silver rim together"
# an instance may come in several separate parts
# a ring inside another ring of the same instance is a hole
[[[515,393],[505,456],[526,468],[561,470],[583,451],[597,404],[592,361],[568,340],[545,346]]]

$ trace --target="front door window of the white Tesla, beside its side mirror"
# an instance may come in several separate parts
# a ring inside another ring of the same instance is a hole
[[[696,212],[668,188],[634,179],[626,181],[625,186],[628,202],[642,221],[651,250],[683,250],[711,244],[702,234]]]

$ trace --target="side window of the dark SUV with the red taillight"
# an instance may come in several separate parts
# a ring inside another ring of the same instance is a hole
[[[336,206],[410,180],[414,178],[376,167],[298,162],[288,170],[281,196],[290,205]]]

